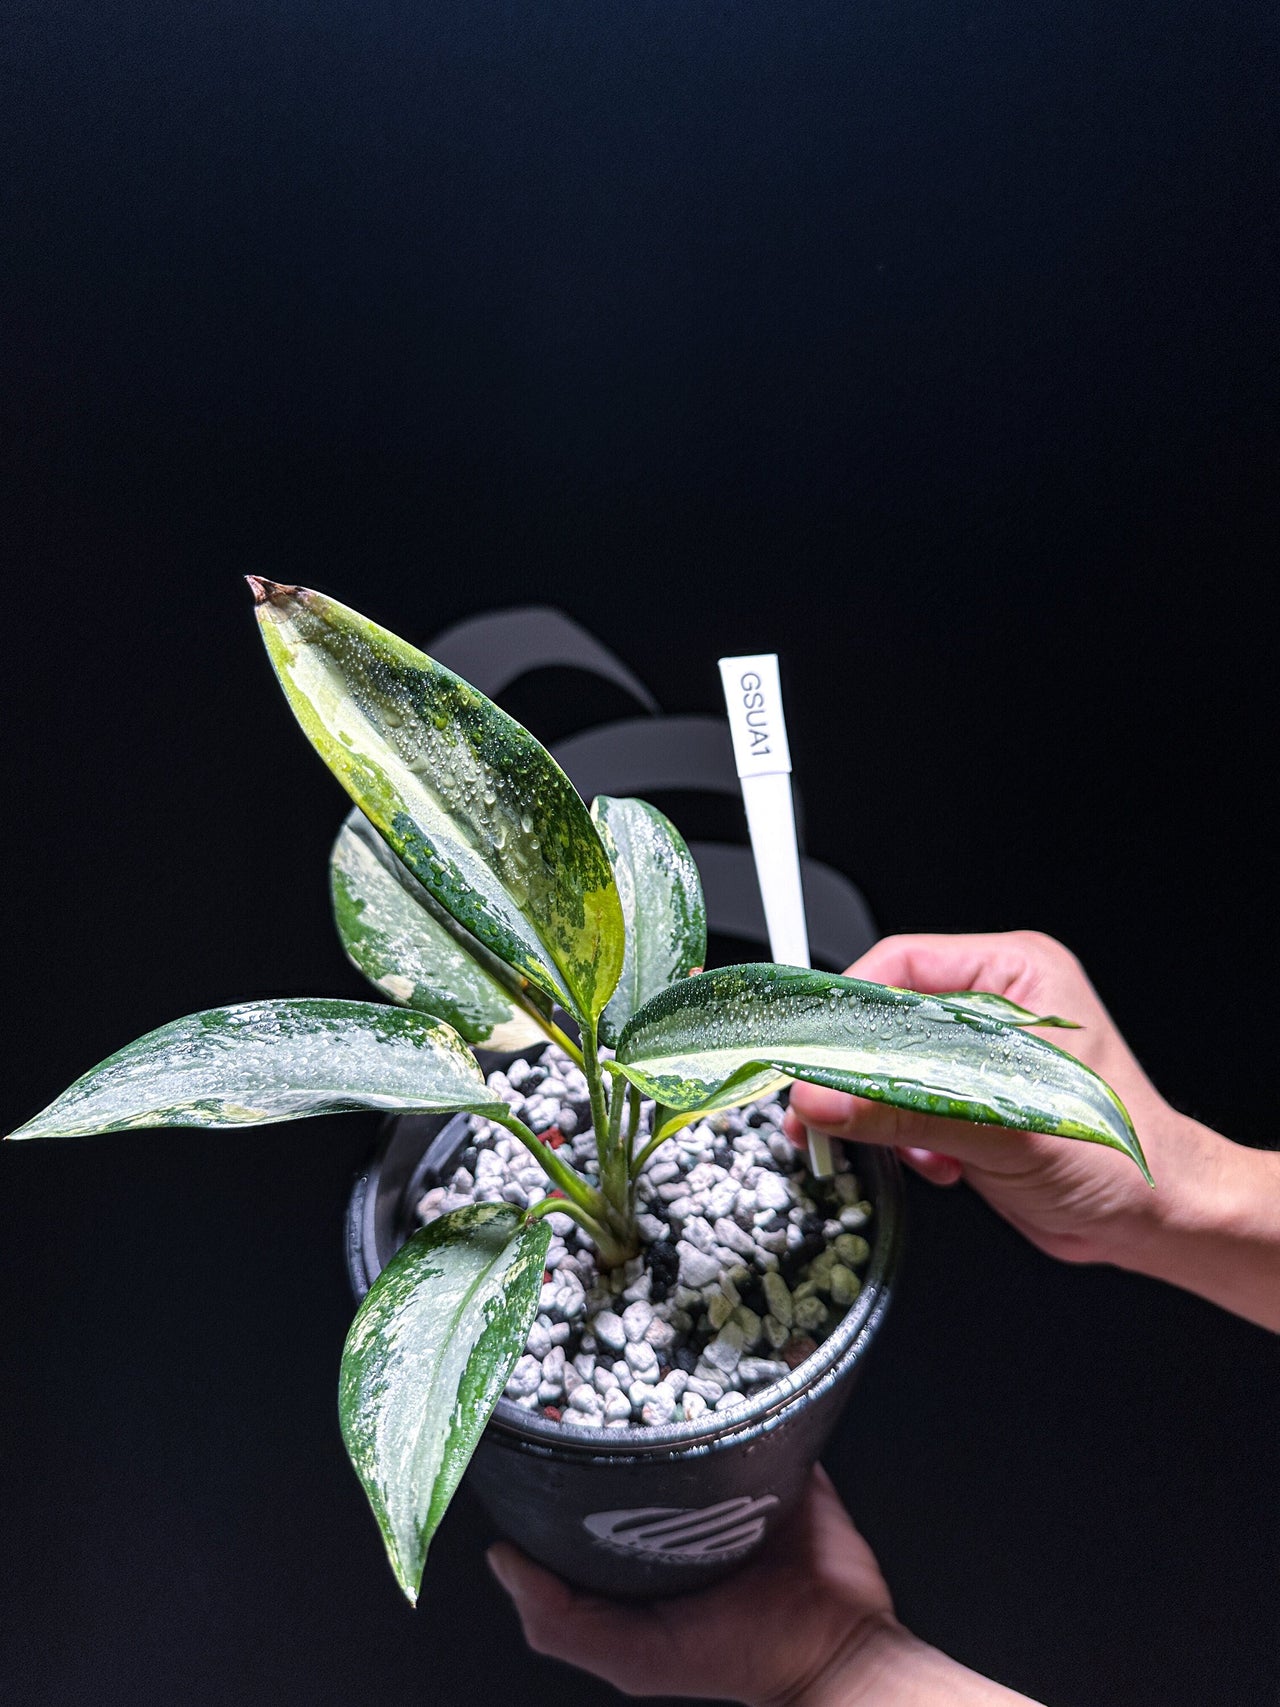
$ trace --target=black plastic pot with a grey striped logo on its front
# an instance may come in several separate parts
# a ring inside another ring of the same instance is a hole
[[[364,1297],[415,1224],[422,1193],[456,1166],[464,1115],[389,1120],[357,1180],[346,1265]],[[737,1410],[666,1429],[567,1429],[500,1400],[468,1471],[495,1524],[551,1570],[601,1594],[652,1599],[744,1564],[794,1509],[889,1304],[901,1253],[896,1157],[857,1156],[876,1207],[862,1290],[785,1381]]]

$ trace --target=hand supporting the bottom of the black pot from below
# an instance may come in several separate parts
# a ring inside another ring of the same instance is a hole
[[[529,1646],[626,1695],[749,1707],[1024,1700],[898,1623],[881,1567],[821,1466],[768,1550],[701,1594],[620,1605],[570,1589],[507,1541],[488,1557]]]

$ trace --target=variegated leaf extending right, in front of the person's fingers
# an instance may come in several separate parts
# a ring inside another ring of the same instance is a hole
[[[671,985],[628,1022],[618,1067],[671,1108],[771,1069],[853,1096],[1085,1139],[1147,1162],[1120,1098],[1043,1038],[887,985],[795,966],[725,966]]]

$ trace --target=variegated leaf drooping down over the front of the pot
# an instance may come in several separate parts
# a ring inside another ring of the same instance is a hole
[[[427,1548],[524,1352],[551,1243],[509,1203],[415,1232],[369,1290],[343,1349],[346,1451],[416,1603]]]

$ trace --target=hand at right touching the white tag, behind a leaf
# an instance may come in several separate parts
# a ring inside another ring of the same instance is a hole
[[[1155,1275],[1280,1328],[1280,1157],[1232,1144],[1171,1108],[1068,949],[1034,930],[886,937],[848,971],[928,993],[990,990],[1075,1021],[1079,1031],[1039,1036],[1113,1086],[1155,1190],[1092,1144],[915,1115],[812,1084],[792,1087],[792,1142],[804,1144],[804,1121],[833,1137],[893,1145],[935,1185],[966,1180],[1050,1256]]]

